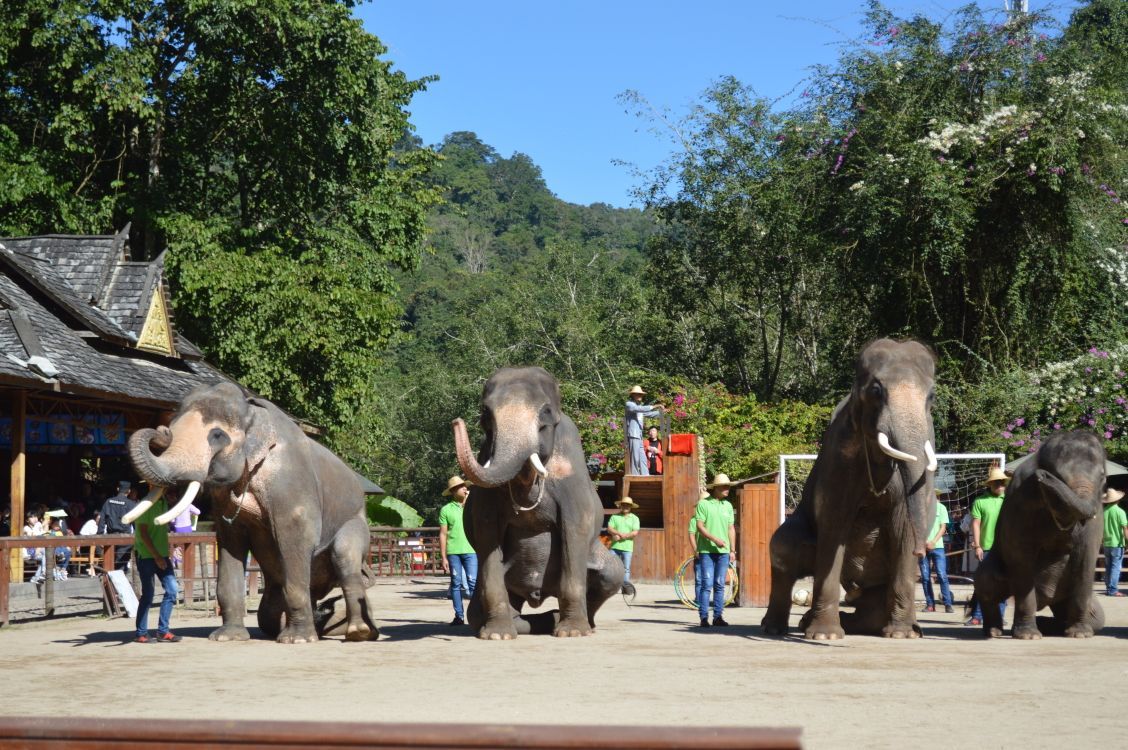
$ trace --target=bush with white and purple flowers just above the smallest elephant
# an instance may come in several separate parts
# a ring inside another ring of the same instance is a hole
[[[1094,346],[1030,378],[1041,403],[999,432],[1011,451],[1031,453],[1055,432],[1079,429],[1096,433],[1110,455],[1128,455],[1128,344]]]

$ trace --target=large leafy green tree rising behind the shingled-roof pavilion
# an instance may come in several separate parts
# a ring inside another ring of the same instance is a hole
[[[169,249],[182,330],[341,421],[398,325],[434,155],[349,0],[28,0],[0,10],[0,230]]]

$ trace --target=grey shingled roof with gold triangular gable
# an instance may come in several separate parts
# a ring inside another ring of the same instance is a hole
[[[164,255],[112,236],[0,238],[0,381],[171,407],[226,380],[176,333]]]

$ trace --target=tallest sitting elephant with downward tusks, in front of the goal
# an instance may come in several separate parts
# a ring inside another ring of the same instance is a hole
[[[919,342],[880,338],[858,355],[799,506],[772,536],[764,633],[787,632],[792,586],[813,575],[805,637],[922,635],[914,586],[936,514],[934,379],[935,356]],[[853,612],[839,614],[839,584]]]

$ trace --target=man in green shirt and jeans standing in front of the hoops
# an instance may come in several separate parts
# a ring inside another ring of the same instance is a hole
[[[725,627],[724,579],[729,562],[737,558],[737,526],[732,503],[726,498],[732,482],[717,474],[705,485],[708,497],[702,498],[694,511],[697,522],[697,615],[700,626],[710,627],[710,593],[713,594],[713,625]]]

